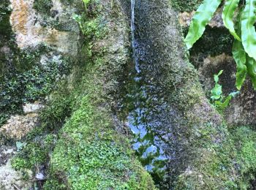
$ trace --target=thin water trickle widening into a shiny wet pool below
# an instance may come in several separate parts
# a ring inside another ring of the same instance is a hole
[[[153,93],[155,87],[146,82],[140,70],[141,58],[138,54],[141,52],[137,52],[139,44],[135,34],[135,0],[131,0],[131,13],[134,69],[129,73],[129,85],[122,107],[128,113],[127,126],[135,137],[132,147],[146,170],[157,183],[160,183],[165,178],[167,156],[163,148],[167,145],[164,140],[165,134],[158,130],[158,126],[163,125],[159,116],[167,105],[161,97]]]

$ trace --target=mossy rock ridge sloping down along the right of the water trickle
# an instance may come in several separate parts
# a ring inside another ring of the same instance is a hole
[[[136,6],[140,73],[154,98],[165,98],[166,102],[166,111],[161,110],[157,121],[167,124],[159,122],[156,131],[165,132],[165,155],[171,158],[167,164],[169,178],[163,186],[232,189],[243,181],[248,184],[249,180],[240,180],[244,174],[233,164],[238,156],[228,127],[208,103],[197,72],[189,64],[170,1],[145,0]],[[254,138],[249,137],[249,141]],[[254,175],[255,169],[249,173]]]

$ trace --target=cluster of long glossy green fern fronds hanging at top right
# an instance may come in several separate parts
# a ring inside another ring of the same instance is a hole
[[[187,48],[190,49],[197,39],[202,37],[206,25],[210,22],[222,0],[204,0],[195,12],[189,32],[185,38]],[[256,90],[256,0],[246,0],[245,5],[239,7],[239,0],[226,0],[222,12],[222,20],[230,34],[235,38],[233,43],[233,58],[236,61],[236,88],[241,89],[246,75],[252,80]],[[241,10],[235,17],[236,10]],[[233,18],[236,18],[236,23]],[[236,28],[236,29],[235,29]]]

